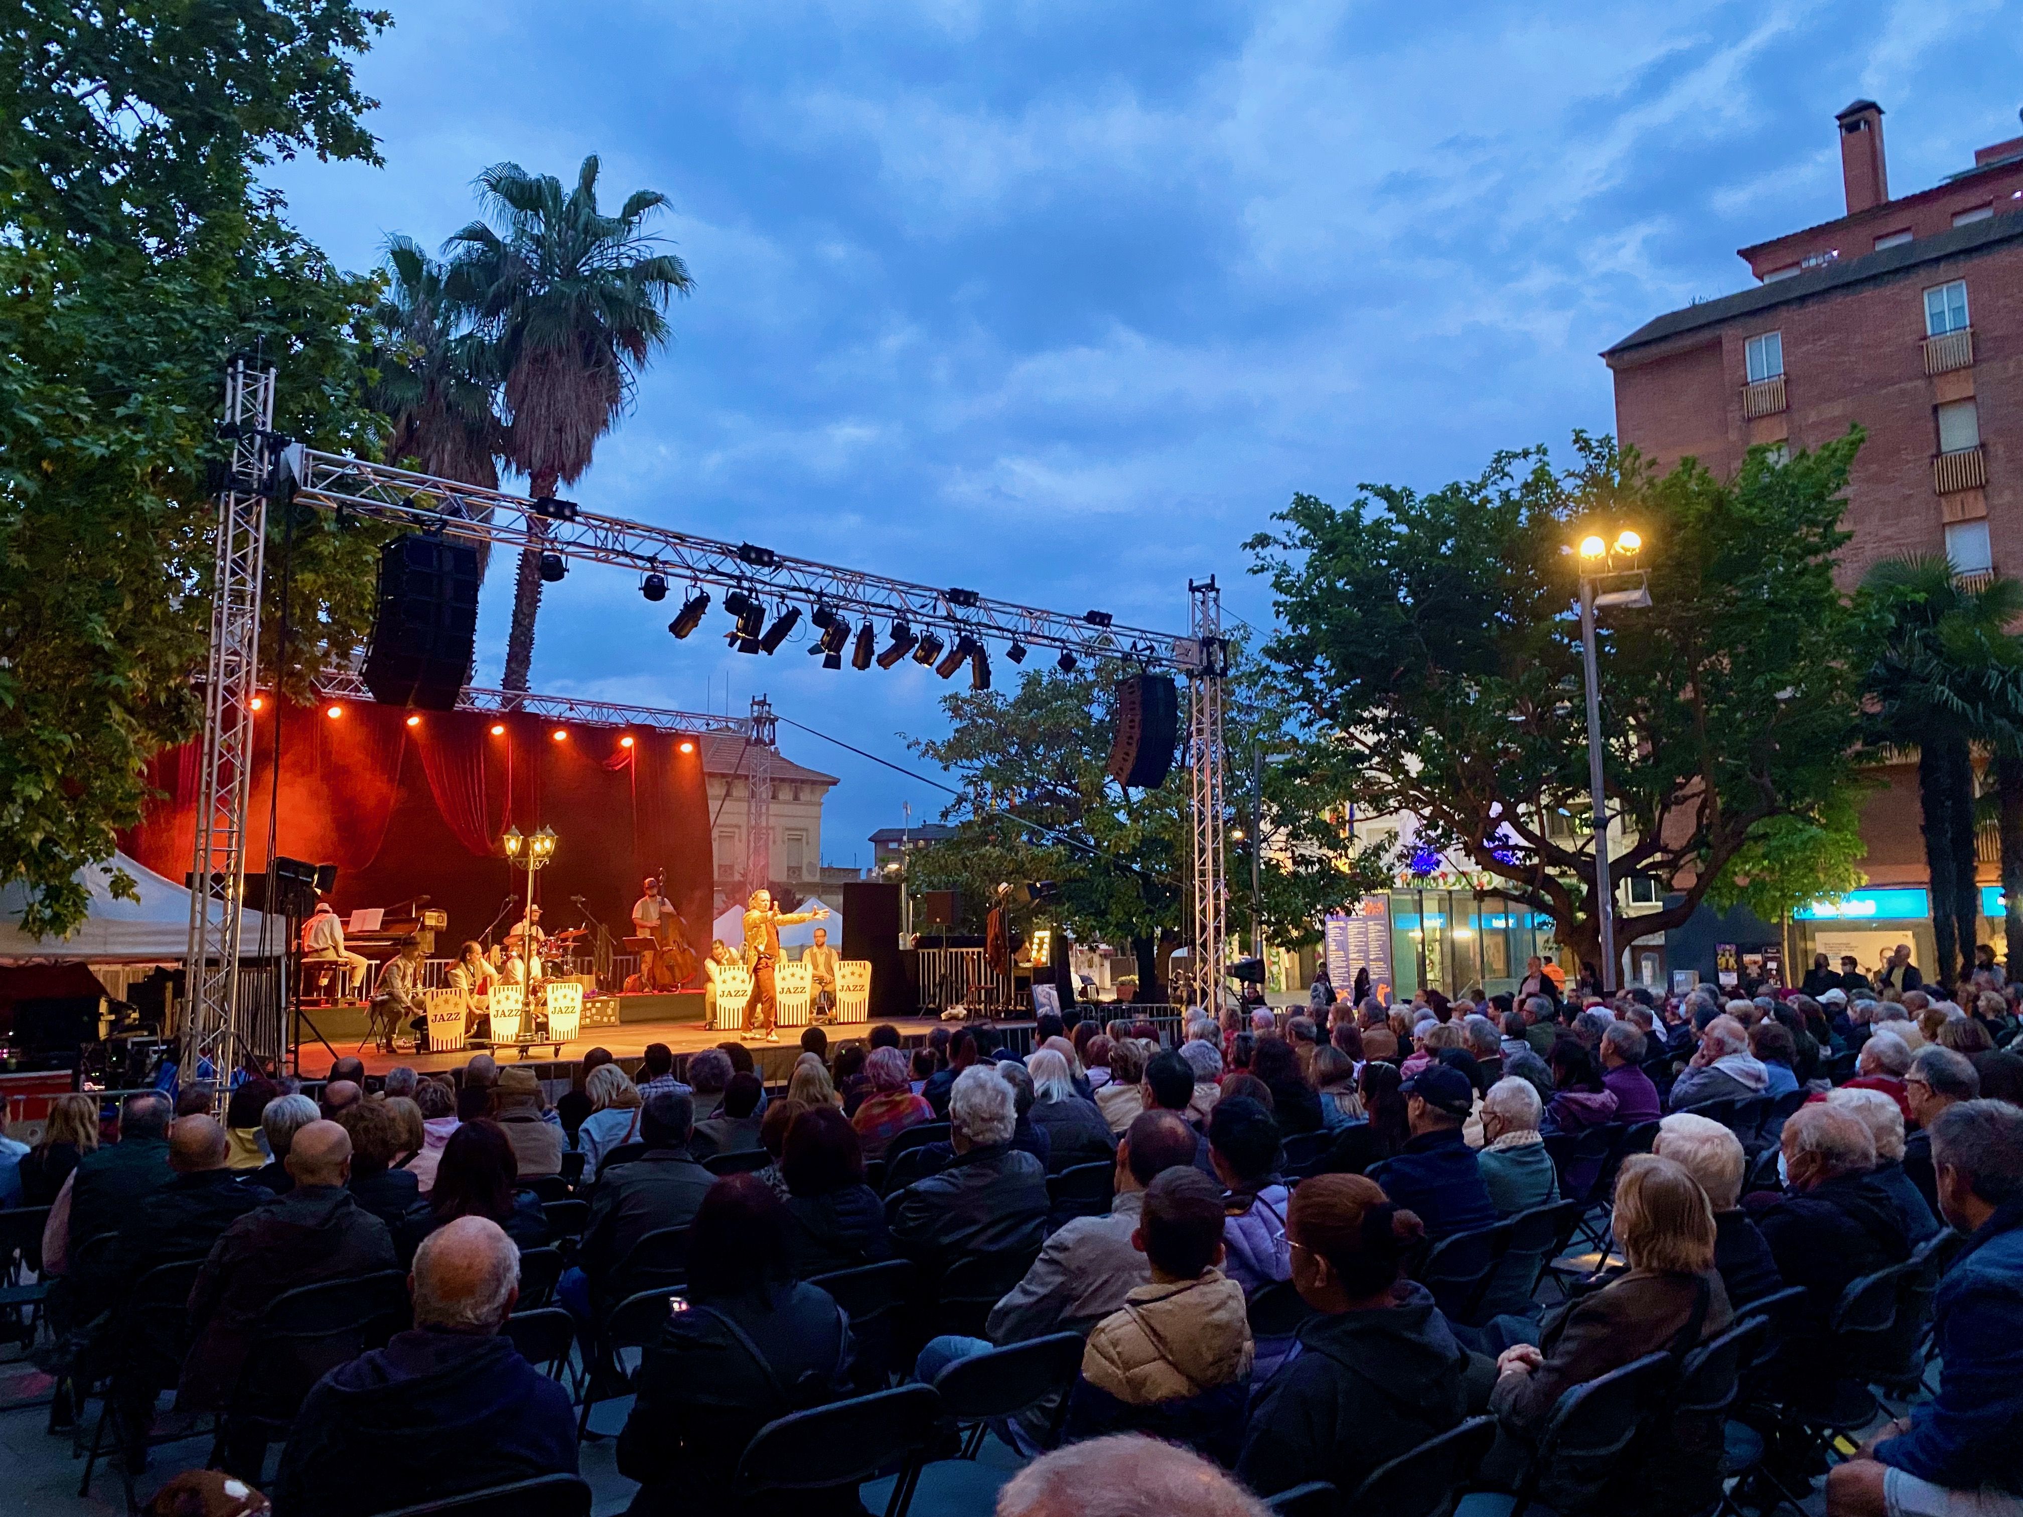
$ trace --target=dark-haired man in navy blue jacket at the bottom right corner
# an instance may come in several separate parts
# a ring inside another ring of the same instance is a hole
[[[2023,1509],[2023,1110],[1950,1106],[1932,1159],[1938,1210],[1966,1234],[1932,1303],[1938,1396],[1827,1475],[1829,1517]]]

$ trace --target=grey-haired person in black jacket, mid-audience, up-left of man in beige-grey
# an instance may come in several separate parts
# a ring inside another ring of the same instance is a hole
[[[971,1064],[949,1088],[947,1169],[900,1191],[892,1242],[939,1272],[967,1254],[1032,1252],[1046,1238],[1046,1165],[1012,1147],[1018,1106],[995,1066]]]

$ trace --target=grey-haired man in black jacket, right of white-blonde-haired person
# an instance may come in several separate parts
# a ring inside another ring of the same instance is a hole
[[[1782,1193],[1760,1191],[1744,1210],[1762,1228],[1784,1284],[1802,1284],[1784,1363],[1796,1381],[1833,1390],[1827,1323],[1851,1280],[1910,1258],[1904,1208],[1869,1179],[1875,1139],[1857,1117],[1829,1106],[1800,1106],[1784,1123]]]

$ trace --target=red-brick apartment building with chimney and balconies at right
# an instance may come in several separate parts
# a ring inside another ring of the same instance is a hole
[[[1740,249],[1752,289],[1608,348],[1616,435],[1661,469],[1697,457],[1734,475],[1752,447],[1817,447],[1859,423],[1845,585],[1910,552],[1944,552],[1962,576],[2023,574],[2023,138],[1892,200],[1881,107],[1857,99],[1835,119],[1847,214]],[[1800,969],[1815,949],[1873,965],[1898,941],[1932,965],[1916,775],[1881,779],[1861,817],[1869,888],[1794,924]],[[1981,941],[1999,943],[1993,837],[1981,854]],[[1695,920],[1667,959],[1693,967],[1716,939],[1768,932]]]

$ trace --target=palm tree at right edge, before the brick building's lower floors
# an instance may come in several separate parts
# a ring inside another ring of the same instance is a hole
[[[1972,752],[1976,744],[1993,752],[2023,746],[2023,706],[2015,694],[2023,645],[2009,635],[2009,625],[2023,617],[2023,583],[1993,578],[1970,589],[1944,558],[1914,554],[1877,562],[1861,591],[1873,617],[1865,680],[1869,740],[1918,750],[1938,945],[1934,971],[1942,985],[1952,985],[1972,969],[1981,914]]]

